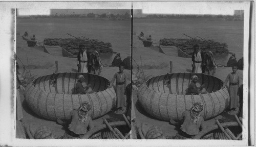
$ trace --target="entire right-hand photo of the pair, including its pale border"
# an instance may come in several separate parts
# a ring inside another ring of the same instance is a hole
[[[133,139],[245,139],[245,6],[134,3]]]

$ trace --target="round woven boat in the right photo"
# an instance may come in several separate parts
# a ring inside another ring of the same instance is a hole
[[[206,94],[188,95],[190,77],[198,76],[198,82],[205,85]],[[174,73],[149,79],[139,88],[138,100],[143,109],[150,115],[169,121],[181,120],[182,113],[189,110],[195,102],[201,102],[204,109],[200,114],[204,119],[219,115],[229,105],[227,88],[221,89],[223,82],[214,76],[195,73]]]

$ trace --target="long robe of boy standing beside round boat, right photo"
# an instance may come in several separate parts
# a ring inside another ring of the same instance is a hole
[[[225,80],[225,83],[227,83],[229,81],[229,83],[238,83],[239,82],[239,77],[237,73],[229,73],[227,75],[227,78]],[[230,96],[230,105],[229,108],[238,108],[239,107],[239,100],[238,100],[238,85],[230,85],[229,84],[229,96]]]

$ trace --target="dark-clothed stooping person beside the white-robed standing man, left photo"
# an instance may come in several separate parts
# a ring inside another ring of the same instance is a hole
[[[97,51],[92,52],[89,63],[91,64],[90,73],[99,75],[103,67],[103,64],[100,60],[99,53]]]

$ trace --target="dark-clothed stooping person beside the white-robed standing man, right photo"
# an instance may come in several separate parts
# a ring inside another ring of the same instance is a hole
[[[204,74],[214,76],[217,65],[215,63],[214,55],[210,51],[205,53],[204,63],[205,63]]]

